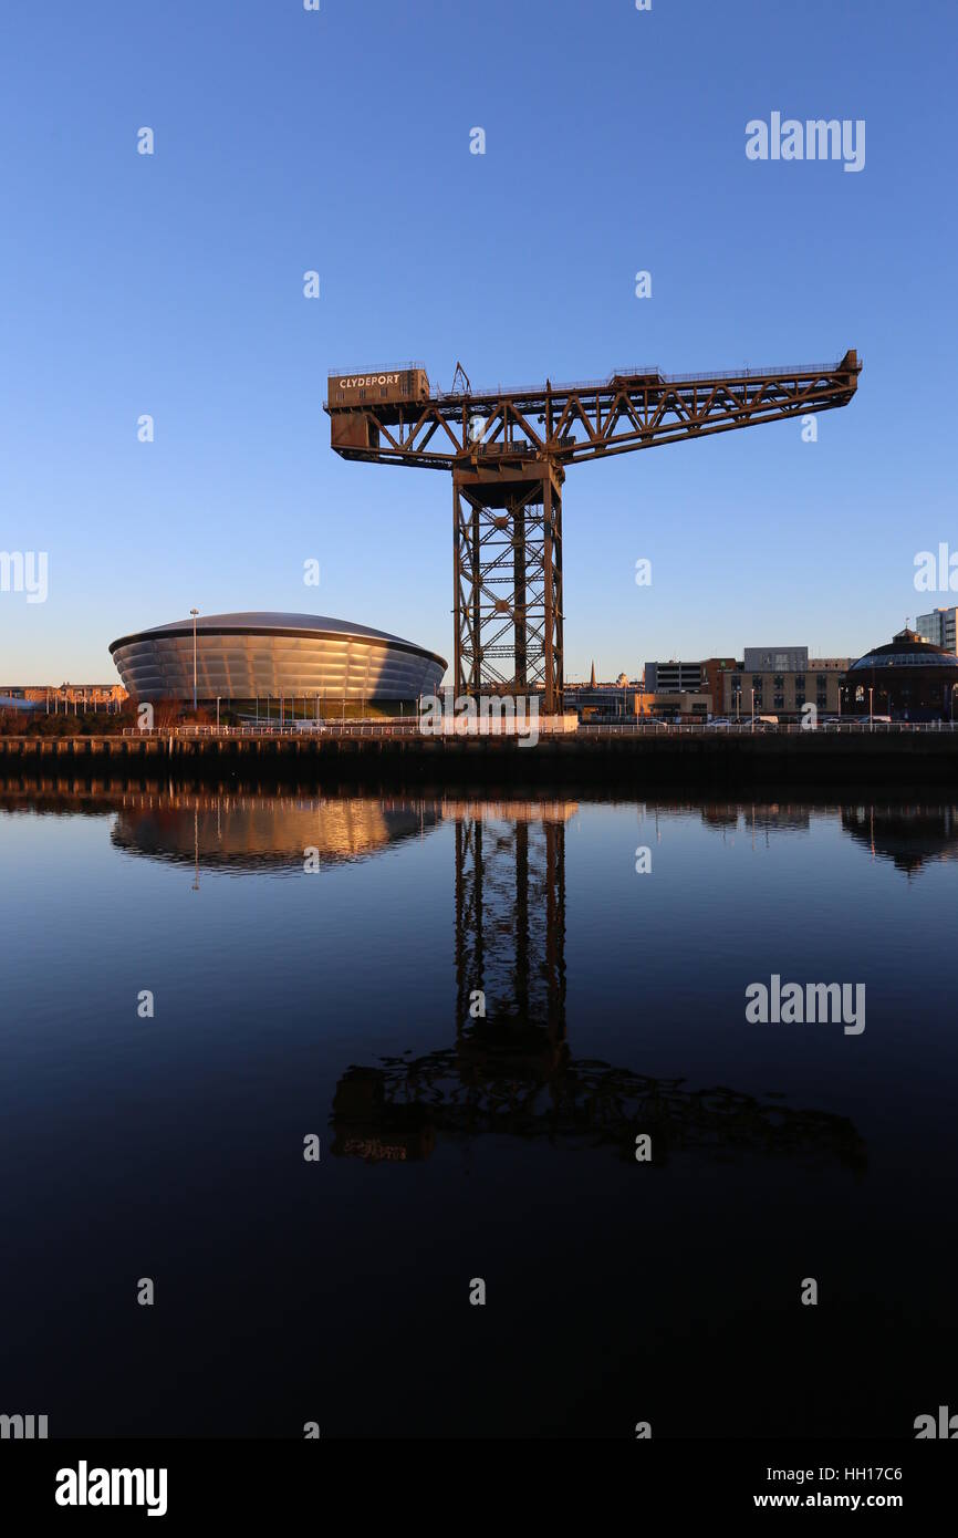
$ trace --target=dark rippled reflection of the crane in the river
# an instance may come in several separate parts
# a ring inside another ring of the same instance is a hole
[[[649,1134],[678,1149],[864,1166],[852,1123],[724,1086],[687,1087],[572,1055],[566,1023],[566,826],[572,801],[446,801],[455,823],[455,1043],[352,1066],[332,1106],[332,1152],[427,1158],[483,1134],[607,1147]],[[723,820],[720,818],[720,823]]]

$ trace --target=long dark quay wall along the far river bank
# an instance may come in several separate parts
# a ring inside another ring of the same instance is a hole
[[[369,777],[381,783],[600,781],[641,787],[678,778],[714,784],[777,783],[923,787],[958,783],[958,732],[578,732],[532,746],[509,737],[0,737],[0,772],[55,766],[223,778]]]

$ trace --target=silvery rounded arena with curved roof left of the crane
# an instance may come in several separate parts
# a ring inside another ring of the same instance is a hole
[[[194,621],[109,647],[134,700],[192,701]],[[400,715],[435,694],[446,660],[414,641],[318,614],[208,614],[195,621],[197,701],[272,714]],[[264,707],[264,711],[263,711]]]

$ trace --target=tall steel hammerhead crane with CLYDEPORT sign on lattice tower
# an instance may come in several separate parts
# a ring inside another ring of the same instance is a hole
[[[457,694],[543,691],[563,704],[566,468],[847,406],[840,363],[664,375],[620,369],[584,384],[472,389],[457,365],[437,391],[421,363],[329,375],[331,444],[346,460],[452,471]]]

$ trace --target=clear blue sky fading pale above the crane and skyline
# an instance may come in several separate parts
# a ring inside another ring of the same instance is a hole
[[[451,478],[338,460],[321,411],[329,368],[411,358],[444,388],[457,358],[477,384],[864,358],[817,443],[569,472],[567,677],[858,655],[955,601],[913,560],[958,551],[956,42],[953,0],[8,8],[0,549],[46,552],[49,595],[0,592],[0,684],[112,678],[111,640],[192,606],[451,657]],[[749,160],[775,111],[864,118],[864,169]]]

